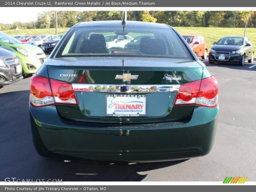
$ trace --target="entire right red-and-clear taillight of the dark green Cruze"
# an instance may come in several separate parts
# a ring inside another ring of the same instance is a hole
[[[174,105],[218,105],[218,82],[214,76],[181,84]]]

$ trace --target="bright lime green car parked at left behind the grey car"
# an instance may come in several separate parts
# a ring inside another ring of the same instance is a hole
[[[36,73],[46,59],[41,48],[30,44],[23,44],[2,32],[0,32],[0,46],[10,49],[16,54],[21,62],[23,75]]]

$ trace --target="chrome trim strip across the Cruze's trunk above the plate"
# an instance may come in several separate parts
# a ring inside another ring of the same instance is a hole
[[[178,92],[180,85],[72,84],[74,91],[104,93]]]

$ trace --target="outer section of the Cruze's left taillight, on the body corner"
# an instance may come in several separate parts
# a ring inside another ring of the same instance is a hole
[[[30,103],[35,107],[54,103],[48,78],[39,75],[34,75],[31,78]]]

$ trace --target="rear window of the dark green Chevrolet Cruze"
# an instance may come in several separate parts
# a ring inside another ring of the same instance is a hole
[[[125,30],[122,26],[73,28],[55,57],[121,55],[192,60],[190,52],[172,29],[130,26]]]

